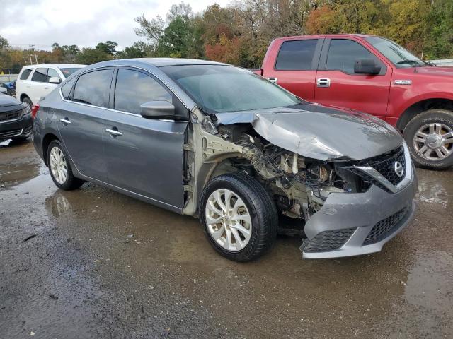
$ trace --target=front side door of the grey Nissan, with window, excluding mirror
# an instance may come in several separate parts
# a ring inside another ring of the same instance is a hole
[[[139,113],[140,105],[152,100],[173,102],[176,109],[183,109],[182,105],[145,71],[118,68],[114,78],[113,109],[105,117],[103,129],[109,184],[181,208],[187,122],[145,119]]]

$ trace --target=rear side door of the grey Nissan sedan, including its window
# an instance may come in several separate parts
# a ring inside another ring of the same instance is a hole
[[[81,174],[107,182],[103,154],[103,117],[108,112],[113,67],[83,73],[62,86],[64,105],[58,129],[71,160]]]

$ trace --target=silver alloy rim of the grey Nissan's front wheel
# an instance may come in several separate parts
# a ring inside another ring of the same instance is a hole
[[[205,208],[212,239],[228,251],[241,251],[251,238],[252,222],[246,204],[229,189],[212,192]]]

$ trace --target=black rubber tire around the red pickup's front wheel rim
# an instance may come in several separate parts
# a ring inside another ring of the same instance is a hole
[[[408,144],[409,152],[413,163],[416,167],[424,167],[428,169],[447,169],[453,165],[453,153],[442,160],[429,160],[420,156],[415,150],[414,137],[418,129],[427,124],[439,123],[449,126],[453,129],[453,112],[445,109],[430,109],[415,116],[403,131],[404,140]],[[449,147],[453,147],[449,146]]]

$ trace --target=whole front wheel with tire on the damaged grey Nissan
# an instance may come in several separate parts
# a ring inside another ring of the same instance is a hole
[[[277,236],[277,208],[264,187],[243,173],[212,179],[200,198],[200,222],[222,256],[251,261],[269,251]]]

